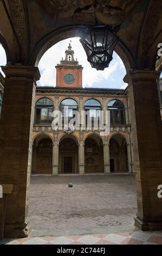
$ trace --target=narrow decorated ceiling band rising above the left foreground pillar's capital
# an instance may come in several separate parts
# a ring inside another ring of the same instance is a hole
[[[27,59],[27,25],[23,0],[8,0],[9,13],[21,46],[21,63]]]

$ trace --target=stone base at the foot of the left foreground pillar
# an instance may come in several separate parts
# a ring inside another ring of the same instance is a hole
[[[30,233],[29,223],[5,224],[5,238],[25,238]]]

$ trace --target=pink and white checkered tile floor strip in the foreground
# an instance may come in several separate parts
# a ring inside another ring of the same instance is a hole
[[[8,245],[162,245],[162,231],[135,230],[101,235],[28,237],[4,242]]]

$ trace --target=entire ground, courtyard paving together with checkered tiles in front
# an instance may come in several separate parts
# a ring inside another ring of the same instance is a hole
[[[134,227],[136,210],[131,175],[32,176],[31,233],[0,244],[161,245],[162,231]]]

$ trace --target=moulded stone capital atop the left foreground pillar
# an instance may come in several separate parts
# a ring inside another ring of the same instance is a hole
[[[34,81],[40,80],[40,71],[36,66],[25,66],[25,65],[7,65],[2,66],[2,70],[5,74],[5,78],[29,78]]]

